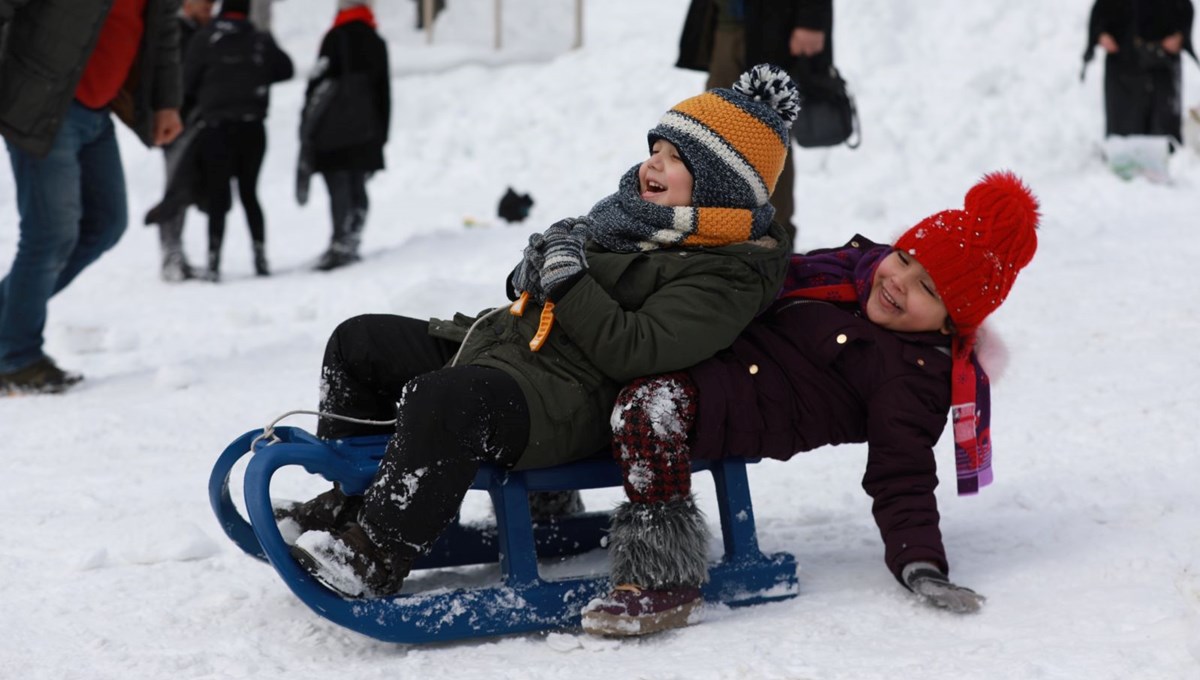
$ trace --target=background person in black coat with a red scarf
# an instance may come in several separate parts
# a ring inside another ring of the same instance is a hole
[[[349,86],[352,79],[359,80],[354,88]],[[344,113],[366,115],[364,124],[353,127],[370,133],[362,139],[340,134],[348,125],[330,114]],[[368,0],[338,0],[334,26],[320,43],[318,66],[305,92],[305,120],[300,131],[301,182],[307,187],[307,173],[316,171],[329,188],[334,233],[316,265],[329,271],[359,259],[367,219],[367,177],[384,168],[383,146],[391,121],[388,46],[376,31]]]

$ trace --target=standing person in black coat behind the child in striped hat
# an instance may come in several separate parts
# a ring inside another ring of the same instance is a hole
[[[676,66],[707,71],[704,88],[728,88],[748,67],[786,68],[803,94],[833,66],[833,0],[692,0]],[[788,149],[770,204],[796,241],[796,170]]]

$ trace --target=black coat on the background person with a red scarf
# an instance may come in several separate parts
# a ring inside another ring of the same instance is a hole
[[[391,77],[388,64],[388,44],[365,22],[347,22],[340,26],[330,29],[325,38],[320,41],[319,60],[326,64],[325,68],[312,80],[305,98],[311,98],[317,86],[328,78],[337,78],[343,73],[367,73],[372,83],[374,95],[374,107],[378,120],[384,122],[380,137],[355,146],[337,149],[335,151],[318,151],[313,155],[312,169],[317,173],[329,173],[335,170],[382,170],[383,146],[388,143],[388,132],[391,124]],[[337,107],[335,100],[329,104]]]

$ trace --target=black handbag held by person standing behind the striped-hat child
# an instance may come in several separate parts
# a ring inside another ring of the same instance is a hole
[[[805,149],[845,144],[858,149],[863,140],[854,97],[833,66],[828,74],[796,79],[800,86],[800,113],[792,122],[792,138]]]

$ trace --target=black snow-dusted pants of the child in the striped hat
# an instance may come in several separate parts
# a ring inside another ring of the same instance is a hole
[[[458,345],[428,323],[371,314],[338,325],[325,348],[320,410],[395,427],[323,417],[318,437],[391,433],[364,494],[360,522],[397,558],[427,549],[454,520],[480,463],[511,465],[529,439],[521,386],[497,368],[445,368]]]

